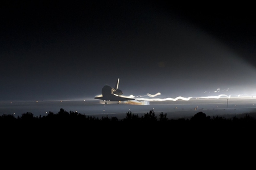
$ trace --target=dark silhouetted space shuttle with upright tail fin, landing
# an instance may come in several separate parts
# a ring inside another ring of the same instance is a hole
[[[94,99],[99,99],[105,101],[105,104],[108,104],[108,101],[117,101],[117,104],[121,103],[121,101],[134,100],[127,97],[122,97],[122,90],[118,88],[119,86],[119,78],[117,79],[117,83],[115,83],[115,87],[110,87],[109,85],[105,85],[102,90],[102,96],[94,97]]]

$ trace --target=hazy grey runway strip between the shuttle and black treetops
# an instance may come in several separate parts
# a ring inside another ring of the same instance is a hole
[[[141,105],[139,105],[141,104]],[[14,114],[15,117],[22,113],[31,112],[34,116],[46,116],[49,111],[57,113],[63,108],[65,111],[73,111],[88,116],[101,118],[102,116],[125,118],[127,112],[142,116],[144,113],[154,109],[156,116],[159,113],[167,113],[168,118],[190,118],[197,112],[203,112],[207,116],[239,116],[242,113],[256,113],[255,97],[234,97],[220,99],[196,99],[188,101],[150,101],[146,104],[127,104],[109,102],[102,104],[100,100],[79,100],[79,101],[30,101],[0,103],[0,115]]]

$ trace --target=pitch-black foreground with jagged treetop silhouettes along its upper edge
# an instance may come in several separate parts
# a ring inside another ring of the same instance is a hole
[[[142,116],[127,112],[119,120],[60,109],[43,117],[29,112],[18,118],[6,114],[0,117],[0,128],[1,154],[9,161],[12,158],[12,164],[22,160],[26,167],[72,163],[72,168],[92,164],[120,168],[139,163],[159,168],[176,164],[175,160],[196,160],[199,166],[206,160],[251,157],[256,120],[248,114],[225,118],[203,112],[174,120],[152,110]]]

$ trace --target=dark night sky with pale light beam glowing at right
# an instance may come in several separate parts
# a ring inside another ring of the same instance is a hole
[[[127,96],[256,92],[252,7],[1,1],[0,15],[0,101],[93,99],[117,78]]]

